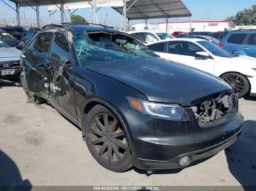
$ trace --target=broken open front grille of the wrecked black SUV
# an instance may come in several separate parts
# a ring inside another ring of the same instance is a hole
[[[231,91],[225,91],[203,98],[191,109],[199,125],[206,125],[222,119],[227,114],[237,112],[238,98]]]

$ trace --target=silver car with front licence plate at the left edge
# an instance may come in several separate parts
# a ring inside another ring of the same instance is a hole
[[[18,77],[20,75],[21,51],[0,41],[0,77]]]

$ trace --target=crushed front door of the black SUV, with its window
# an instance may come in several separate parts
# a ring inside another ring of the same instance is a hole
[[[68,62],[64,66],[64,63]],[[77,121],[75,112],[72,55],[66,34],[57,32],[53,37],[47,65],[50,76],[50,96],[54,106],[72,120]]]

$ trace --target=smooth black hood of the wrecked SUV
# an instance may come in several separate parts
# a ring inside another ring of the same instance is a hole
[[[160,58],[135,58],[86,68],[135,88],[149,101],[182,106],[190,106],[198,98],[229,88],[217,77]]]

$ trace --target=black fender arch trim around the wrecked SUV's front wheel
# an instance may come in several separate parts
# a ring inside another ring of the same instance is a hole
[[[121,122],[121,125],[124,128],[124,131],[127,135],[127,141],[128,141],[128,146],[129,146],[129,150],[132,153],[132,156],[134,156],[134,149],[133,149],[133,144],[132,144],[132,136],[131,136],[131,132],[129,131],[128,127],[128,122],[125,120],[124,115],[121,113],[121,111],[116,108],[115,106],[113,106],[112,104],[109,104],[107,101],[104,101],[100,98],[91,98],[90,101],[88,101],[86,103],[86,105],[83,108],[83,113],[82,113],[82,125],[81,125],[81,130],[82,130],[82,136],[83,139],[85,137],[85,129],[83,128],[84,122],[86,122],[86,115],[91,111],[91,109],[94,106],[97,105],[101,105],[101,106],[105,106],[107,109],[110,110],[110,112],[113,112],[113,114],[118,118],[118,120]]]

